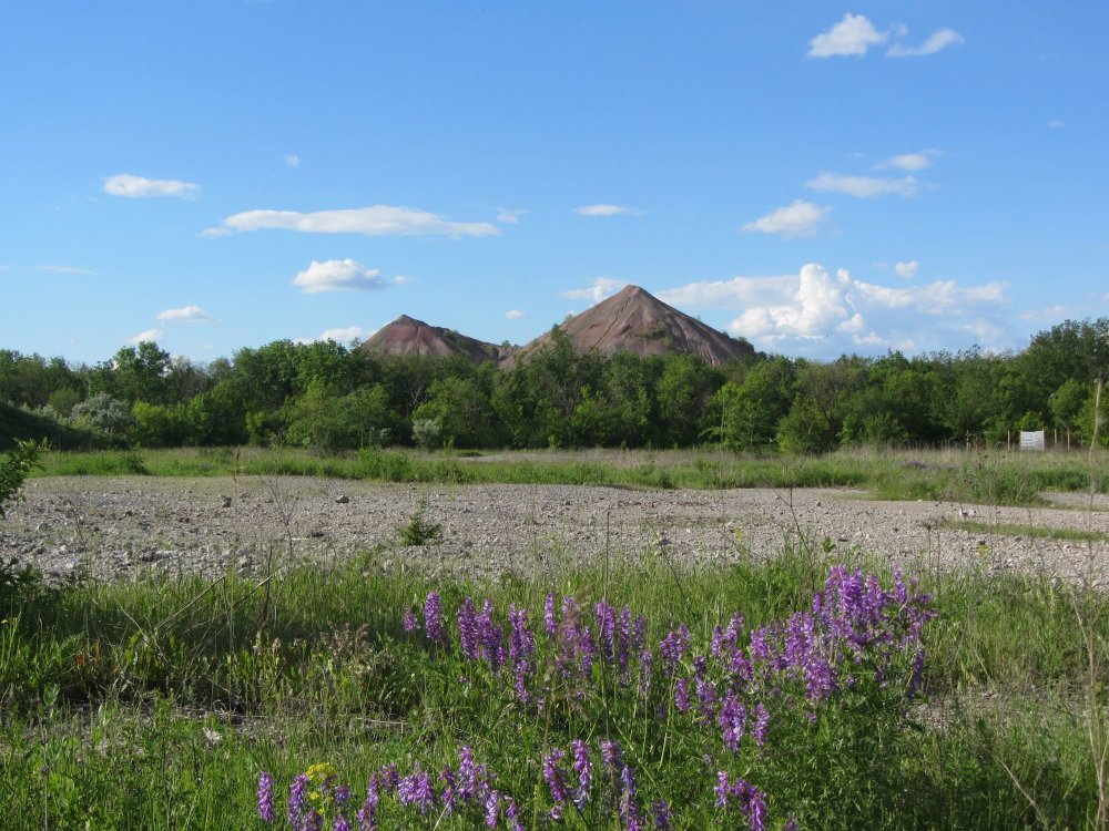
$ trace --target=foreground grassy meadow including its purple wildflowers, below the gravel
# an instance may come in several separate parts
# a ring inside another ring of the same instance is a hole
[[[898,588],[863,560],[788,550],[709,573],[644,555],[538,583],[433,584],[383,571],[385,554],[253,581],[9,579],[4,827],[262,828],[263,771],[286,827],[291,783],[315,765],[334,766],[308,783],[328,828],[339,813],[357,827],[372,777],[383,829],[477,828],[492,791],[501,828],[510,807],[523,828],[653,827],[663,800],[669,827],[690,829],[1097,822],[1100,593],[981,574]],[[467,752],[487,766],[484,800],[459,791],[447,813]]]

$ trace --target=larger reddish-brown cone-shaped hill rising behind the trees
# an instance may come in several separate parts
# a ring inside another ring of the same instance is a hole
[[[602,355],[634,352],[640,357],[678,352],[698,355],[721,366],[754,355],[745,340],[736,340],[668,306],[639,286],[627,286],[559,327],[578,351]],[[522,347],[506,361],[512,366],[551,340],[550,332]]]

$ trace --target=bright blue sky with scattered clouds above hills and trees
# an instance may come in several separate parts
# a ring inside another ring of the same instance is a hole
[[[756,347],[1109,315],[1109,3],[39,2],[0,27],[0,348],[208,361],[629,283]]]

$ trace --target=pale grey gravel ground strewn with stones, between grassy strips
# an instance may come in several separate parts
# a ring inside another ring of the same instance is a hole
[[[0,523],[0,553],[54,576],[257,574],[276,562],[335,561],[377,550],[385,567],[530,574],[552,562],[658,551],[695,564],[772,557],[798,535],[906,566],[1042,571],[1099,583],[1109,543],[970,533],[944,521],[1109,533],[1109,500],[1049,494],[1047,509],[877,502],[847,490],[634,491],[564,485],[380,485],[308,478],[34,479]],[[436,545],[403,547],[398,529],[426,499]]]

